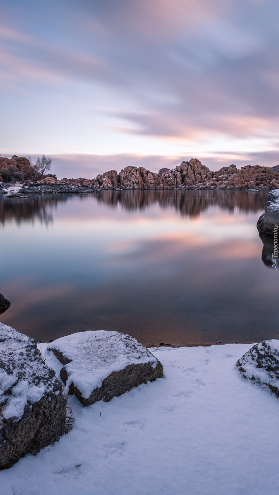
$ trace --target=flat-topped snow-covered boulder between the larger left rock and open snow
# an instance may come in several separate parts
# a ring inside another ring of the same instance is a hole
[[[139,341],[120,332],[80,332],[51,342],[47,349],[64,364],[60,376],[69,394],[83,405],[108,401],[163,376],[160,361]]]

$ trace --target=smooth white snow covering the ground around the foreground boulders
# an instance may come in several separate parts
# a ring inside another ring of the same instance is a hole
[[[153,348],[164,378],[70,397],[73,429],[1,471],[1,495],[277,495],[279,400],[236,370],[250,347]]]

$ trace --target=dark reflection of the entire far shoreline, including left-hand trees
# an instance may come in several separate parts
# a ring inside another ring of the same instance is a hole
[[[93,196],[98,203],[116,208],[121,205],[127,210],[144,210],[157,204],[159,208],[174,208],[182,215],[197,217],[210,206],[218,206],[233,212],[235,208],[243,212],[256,212],[264,209],[266,191],[104,191],[89,195],[59,194],[50,196],[30,195],[28,198],[0,197],[0,224],[15,220],[16,223],[40,220],[48,224],[52,221],[52,210],[73,197],[81,202]]]

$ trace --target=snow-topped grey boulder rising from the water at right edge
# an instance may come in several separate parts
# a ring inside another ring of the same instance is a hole
[[[265,212],[257,222],[259,232],[274,236],[279,224],[279,190],[270,191],[265,200]],[[276,230],[275,230],[276,229]],[[276,236],[277,237],[277,236]]]

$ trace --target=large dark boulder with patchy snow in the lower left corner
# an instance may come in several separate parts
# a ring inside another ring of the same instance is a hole
[[[56,442],[66,430],[65,406],[36,342],[0,323],[0,469]]]

